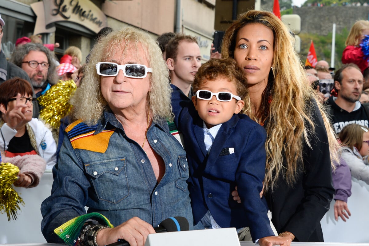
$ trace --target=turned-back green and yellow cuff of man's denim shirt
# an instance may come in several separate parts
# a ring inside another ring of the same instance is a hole
[[[56,235],[59,236],[59,238],[61,238],[68,245],[75,246],[77,244],[77,239],[79,237],[83,225],[89,219],[99,221],[100,224],[107,225],[110,228],[114,227],[104,215],[99,213],[90,213],[78,216],[76,218],[71,219],[70,221],[65,222],[63,225],[56,228],[54,232]]]

